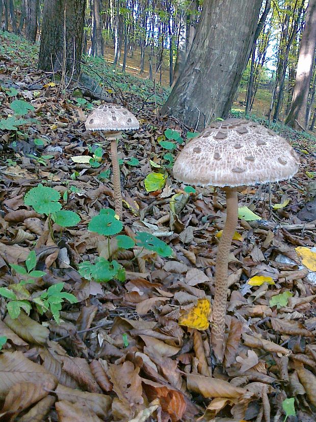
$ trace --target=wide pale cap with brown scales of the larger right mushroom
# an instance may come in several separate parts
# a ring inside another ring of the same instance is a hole
[[[299,158],[281,136],[258,123],[229,118],[212,123],[179,153],[174,177],[199,186],[236,187],[290,179]]]

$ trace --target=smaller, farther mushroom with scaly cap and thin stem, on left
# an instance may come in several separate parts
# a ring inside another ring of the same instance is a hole
[[[122,218],[123,205],[117,140],[121,139],[122,131],[139,129],[139,121],[134,114],[122,106],[103,104],[89,114],[85,126],[89,131],[106,131],[104,135],[111,141],[115,212]]]

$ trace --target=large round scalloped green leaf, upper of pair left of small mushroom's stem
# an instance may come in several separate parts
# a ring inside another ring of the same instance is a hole
[[[58,202],[60,193],[52,188],[39,184],[24,195],[24,204],[30,205],[40,214],[51,214],[59,211],[62,206]]]

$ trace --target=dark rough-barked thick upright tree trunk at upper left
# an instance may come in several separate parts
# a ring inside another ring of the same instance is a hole
[[[85,7],[86,0],[45,0],[40,69],[80,73]]]

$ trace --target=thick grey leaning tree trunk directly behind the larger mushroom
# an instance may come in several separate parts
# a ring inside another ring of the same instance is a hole
[[[227,116],[245,69],[261,0],[206,0],[186,62],[162,108],[190,128]]]

